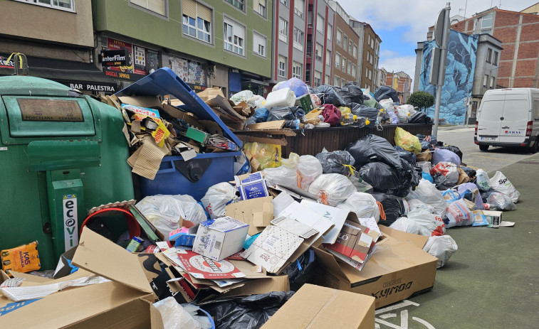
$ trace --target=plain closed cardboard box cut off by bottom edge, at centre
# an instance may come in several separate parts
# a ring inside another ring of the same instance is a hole
[[[303,285],[262,329],[372,329],[375,298],[313,284]]]

